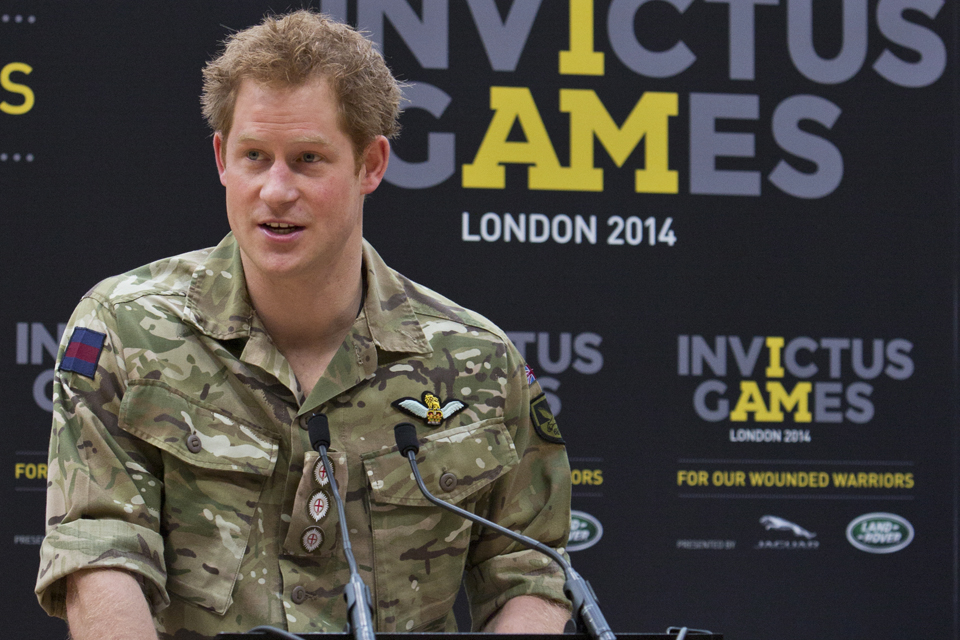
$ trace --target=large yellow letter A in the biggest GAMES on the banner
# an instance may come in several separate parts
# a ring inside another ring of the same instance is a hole
[[[556,189],[539,174],[556,175],[560,161],[543,126],[540,112],[527,87],[490,87],[493,120],[487,128],[472,164],[463,165],[463,186],[474,189],[503,189],[506,186],[504,164],[530,164],[528,188]],[[514,122],[519,122],[525,142],[509,142]]]

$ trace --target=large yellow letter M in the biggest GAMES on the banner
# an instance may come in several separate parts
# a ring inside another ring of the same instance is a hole
[[[669,165],[668,119],[678,113],[677,94],[648,91],[640,97],[622,127],[610,117],[592,89],[561,89],[560,111],[570,114],[570,167],[552,182],[559,189],[603,191],[603,169],[594,166],[593,138],[617,164],[623,163],[646,138],[644,168],[637,169],[637,193],[677,193],[677,172]]]

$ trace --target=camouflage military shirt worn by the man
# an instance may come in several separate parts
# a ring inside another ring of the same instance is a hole
[[[435,495],[560,548],[570,472],[562,444],[531,427],[539,384],[488,320],[369,245],[364,265],[363,309],[308,395],[251,307],[230,235],[83,298],[61,361],[75,327],[106,338],[93,378],[61,365],[54,383],[36,587],[50,614],[65,613],[64,576],[115,567],[141,579],[161,637],[341,631],[348,571],[306,431],[314,412],[329,418],[377,630],[455,630],[464,572],[475,628],[517,595],[569,606],[554,563],[430,505],[393,435],[417,426]],[[465,407],[449,415],[451,401]]]

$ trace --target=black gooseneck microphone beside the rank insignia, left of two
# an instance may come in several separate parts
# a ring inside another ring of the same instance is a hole
[[[323,461],[323,469],[330,480],[330,491],[333,492],[333,501],[337,505],[337,514],[340,516],[343,555],[347,557],[347,564],[350,565],[350,582],[343,587],[343,599],[347,601],[350,630],[357,640],[374,640],[370,589],[364,584],[360,572],[357,571],[357,560],[353,557],[353,547],[350,546],[350,536],[347,533],[347,517],[343,512],[343,500],[340,499],[337,480],[333,477],[333,468],[327,458],[327,448],[330,446],[330,425],[327,416],[322,413],[310,416],[307,419],[307,433],[310,435],[310,446],[320,454],[320,459]]]

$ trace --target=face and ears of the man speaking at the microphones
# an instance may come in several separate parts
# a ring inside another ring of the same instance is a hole
[[[359,264],[363,198],[380,184],[389,145],[375,140],[357,169],[325,80],[279,89],[244,80],[230,134],[213,144],[248,282],[317,281]]]

